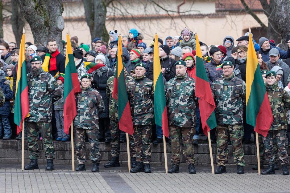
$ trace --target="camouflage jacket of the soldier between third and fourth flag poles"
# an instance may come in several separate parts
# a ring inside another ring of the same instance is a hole
[[[126,85],[133,125],[154,124],[153,81],[143,76]]]

